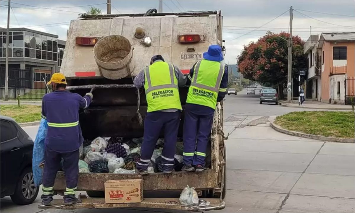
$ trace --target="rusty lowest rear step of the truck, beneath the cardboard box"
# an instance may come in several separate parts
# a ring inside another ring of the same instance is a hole
[[[83,198],[82,203],[65,205],[63,199],[54,199],[51,206],[39,205],[40,209],[78,209],[78,208],[155,208],[175,209],[190,212],[202,212],[224,209],[225,202],[220,198],[204,198],[210,202],[209,206],[185,206],[180,204],[179,198],[144,198],[140,203],[105,203],[105,198]]]

